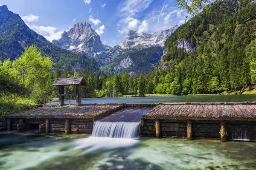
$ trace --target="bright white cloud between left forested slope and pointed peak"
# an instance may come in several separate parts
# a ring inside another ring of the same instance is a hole
[[[29,28],[44,36],[48,41],[58,40],[61,38],[61,34],[63,31],[57,31],[56,27],[52,26],[37,26],[37,25],[29,25],[26,23]]]

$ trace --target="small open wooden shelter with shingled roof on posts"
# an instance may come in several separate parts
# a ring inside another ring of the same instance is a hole
[[[58,102],[59,105],[64,105],[65,96],[76,96],[76,106],[81,105],[81,86],[85,84],[83,77],[76,77],[76,78],[63,78],[57,79],[53,85],[58,86]],[[75,94],[65,94],[64,93],[64,86],[65,85],[75,85],[76,86],[76,93]]]

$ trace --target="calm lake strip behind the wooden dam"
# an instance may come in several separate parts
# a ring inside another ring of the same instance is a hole
[[[91,103],[160,103],[160,102],[253,102],[256,95],[188,95],[188,96],[148,96],[148,97],[104,97],[82,99],[82,104]],[[57,105],[58,102],[50,102]],[[71,104],[75,104],[74,99]],[[65,100],[69,104],[69,100]]]

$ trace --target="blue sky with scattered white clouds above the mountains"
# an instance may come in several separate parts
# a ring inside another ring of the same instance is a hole
[[[186,18],[175,0],[0,0],[1,5],[49,41],[86,21],[110,46],[122,42],[129,30],[151,34]]]

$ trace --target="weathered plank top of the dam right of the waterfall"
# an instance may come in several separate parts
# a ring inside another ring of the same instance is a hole
[[[256,102],[169,103],[157,105],[144,119],[256,121]]]

